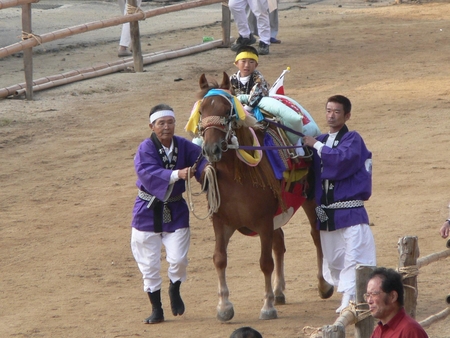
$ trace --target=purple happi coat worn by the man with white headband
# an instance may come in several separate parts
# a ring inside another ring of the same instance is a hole
[[[178,158],[173,170],[192,167],[196,162],[201,148],[189,140],[179,136],[174,136],[178,143]],[[197,164],[195,177],[200,179],[201,173],[207,161],[201,157]],[[158,154],[153,141],[145,139],[138,147],[134,157],[134,167],[137,174],[136,186],[138,189],[156,196],[163,200],[169,188],[171,169],[166,169],[163,161]],[[180,179],[173,184],[173,190],[170,198],[180,196],[185,191],[185,181]],[[147,201],[136,197],[133,208],[133,219],[131,226],[140,231],[155,231],[154,229],[154,210],[147,208]],[[168,203],[171,211],[172,220],[169,223],[162,224],[162,231],[173,232],[176,229],[189,226],[189,209],[186,201],[181,198],[178,201]]]

